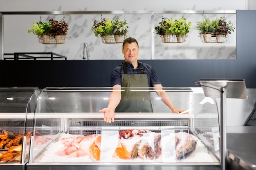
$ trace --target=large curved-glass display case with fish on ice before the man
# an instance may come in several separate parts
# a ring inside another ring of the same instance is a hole
[[[153,113],[115,113],[115,121],[106,123],[99,110],[108,106],[112,91],[43,89],[34,113],[27,170],[220,170],[218,108],[201,87],[121,88],[133,95],[149,93]],[[189,114],[171,113],[157,96],[159,91]],[[42,116],[52,124],[38,123]]]

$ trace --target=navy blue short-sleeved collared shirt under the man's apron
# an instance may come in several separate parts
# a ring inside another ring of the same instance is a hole
[[[161,84],[156,71],[152,66],[146,63],[139,62],[141,64],[142,68],[144,69],[144,73],[148,76],[148,87],[152,87],[153,84]],[[131,63],[126,62],[127,66],[127,73],[128,74],[141,74],[139,71],[139,66],[134,70]],[[111,86],[114,86],[116,84],[119,84],[122,86],[122,74],[124,74],[123,70],[123,64],[119,64],[115,68],[113,68],[111,76],[110,76],[110,83]]]

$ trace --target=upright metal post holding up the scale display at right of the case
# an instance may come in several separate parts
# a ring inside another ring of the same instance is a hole
[[[226,120],[226,97],[227,91],[222,88],[220,95],[220,166],[221,170],[226,169],[226,156],[227,156],[227,120]]]

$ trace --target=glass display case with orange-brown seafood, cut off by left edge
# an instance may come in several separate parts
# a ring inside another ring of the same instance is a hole
[[[39,94],[38,88],[0,88],[0,169],[25,169]]]

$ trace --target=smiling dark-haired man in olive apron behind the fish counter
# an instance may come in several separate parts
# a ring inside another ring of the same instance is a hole
[[[110,81],[113,91],[110,94],[108,107],[99,110],[104,113],[104,121],[115,120],[115,112],[153,112],[150,96],[145,92],[121,92],[121,87],[150,87],[162,89],[162,84],[152,66],[138,62],[139,44],[135,38],[126,38],[123,42],[122,53],[124,62],[112,70]],[[156,91],[157,95],[172,111],[181,113],[184,110],[175,108],[165,91]]]

